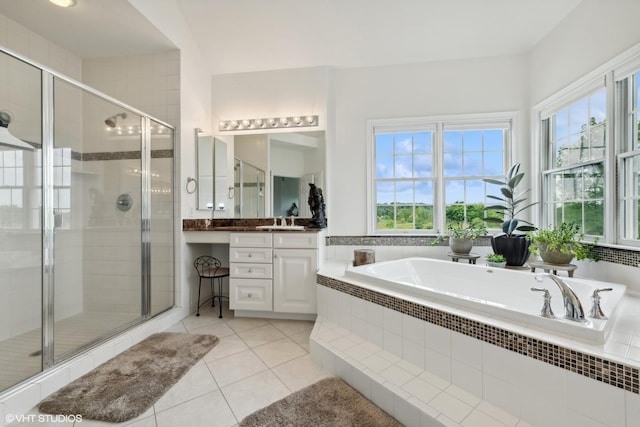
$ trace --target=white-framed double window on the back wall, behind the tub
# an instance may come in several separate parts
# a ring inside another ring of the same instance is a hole
[[[370,121],[370,232],[433,232],[484,222],[483,181],[502,179],[511,117]]]

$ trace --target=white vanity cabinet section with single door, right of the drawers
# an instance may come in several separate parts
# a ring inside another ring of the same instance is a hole
[[[274,233],[273,311],[316,313],[318,233]]]

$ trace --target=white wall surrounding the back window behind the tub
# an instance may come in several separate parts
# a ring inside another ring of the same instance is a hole
[[[523,56],[337,70],[335,141],[327,148],[329,234],[366,234],[368,119],[527,111],[527,77]],[[521,161],[526,114],[517,126],[514,160]]]

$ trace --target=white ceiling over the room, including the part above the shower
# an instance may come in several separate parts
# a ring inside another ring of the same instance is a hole
[[[81,58],[151,53],[173,46],[128,0],[77,1],[65,10],[46,0],[0,0],[0,13]],[[581,2],[175,1],[212,74],[521,54]]]

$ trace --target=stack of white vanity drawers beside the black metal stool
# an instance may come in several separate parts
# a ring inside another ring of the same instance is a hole
[[[230,234],[230,309],[273,310],[272,246],[271,233]]]

